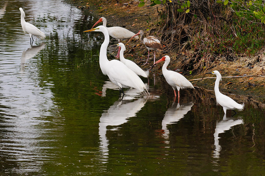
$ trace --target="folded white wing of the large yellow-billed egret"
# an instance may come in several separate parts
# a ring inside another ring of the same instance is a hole
[[[114,84],[116,83],[133,87],[141,92],[146,89],[145,84],[140,77],[118,60],[111,60],[109,62],[108,76]]]

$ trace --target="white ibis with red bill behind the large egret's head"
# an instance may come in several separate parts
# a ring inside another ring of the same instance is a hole
[[[119,27],[119,26],[107,27],[107,20],[104,17],[101,17],[92,26],[92,28],[94,28],[94,26],[97,23],[100,23],[100,22],[103,22],[103,26],[105,28],[107,28],[109,35],[112,36],[113,38],[117,39],[119,43],[120,43],[120,40],[128,39],[128,38],[131,38],[133,35],[135,35],[135,33],[129,31],[128,29],[125,29],[125,28],[122,28],[122,27]],[[135,36],[135,38],[139,38],[139,37],[138,36]],[[120,57],[119,55],[120,55],[120,50],[118,50],[118,53],[117,53],[117,55],[115,57],[118,58],[118,57]]]

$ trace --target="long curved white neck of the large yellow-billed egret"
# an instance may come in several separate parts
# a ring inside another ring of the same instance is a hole
[[[107,66],[107,62],[109,62],[109,60],[107,59],[107,47],[109,45],[109,42],[110,42],[110,36],[109,36],[109,33],[108,31],[102,31],[102,33],[104,34],[104,42],[101,44],[101,47],[100,47],[100,68],[103,72],[104,69],[102,69],[103,67]],[[105,73],[103,73],[105,74]]]

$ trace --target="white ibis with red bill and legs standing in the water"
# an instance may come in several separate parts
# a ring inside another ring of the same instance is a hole
[[[174,72],[174,71],[167,69],[167,66],[170,62],[170,57],[168,55],[165,55],[164,57],[162,57],[162,59],[155,62],[155,64],[157,64],[158,62],[161,62],[161,61],[165,61],[165,63],[163,64],[163,67],[162,67],[162,73],[163,73],[166,81],[168,82],[168,84],[170,86],[172,86],[174,93],[175,93],[175,97],[177,96],[176,91],[175,91],[176,88],[178,89],[178,98],[180,97],[179,96],[180,88],[181,89],[186,89],[186,88],[194,89],[191,82],[189,82],[188,79],[186,79],[183,75],[181,75],[178,72]]]

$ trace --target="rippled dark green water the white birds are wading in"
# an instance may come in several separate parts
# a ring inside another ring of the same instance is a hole
[[[45,40],[29,44],[19,7]],[[0,175],[265,175],[264,105],[234,96],[245,109],[223,116],[213,92],[177,103],[153,76],[151,96],[121,101],[99,67],[103,35],[82,33],[97,20],[59,0],[0,0]]]

